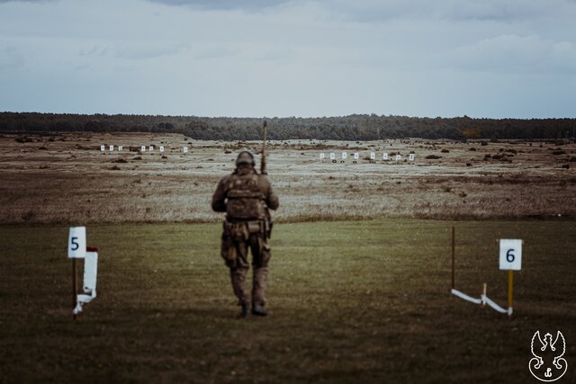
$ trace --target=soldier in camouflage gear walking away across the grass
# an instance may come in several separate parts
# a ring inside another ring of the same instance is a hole
[[[268,209],[278,208],[278,197],[263,174],[258,174],[254,156],[242,151],[236,159],[236,169],[223,177],[212,196],[212,210],[226,212],[223,221],[221,256],[230,270],[230,279],[240,317],[249,311],[246,291],[248,247],[252,251],[252,314],[266,316],[266,275],[270,261],[267,239],[271,223]]]

